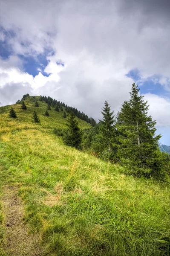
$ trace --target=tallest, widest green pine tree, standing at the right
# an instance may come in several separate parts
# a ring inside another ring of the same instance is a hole
[[[132,84],[130,96],[130,101],[123,103],[117,116],[120,143],[118,156],[128,172],[158,175],[161,171],[161,156],[157,148],[161,136],[155,136],[156,121],[147,116],[149,106],[144,102],[144,96],[139,95],[136,84]]]

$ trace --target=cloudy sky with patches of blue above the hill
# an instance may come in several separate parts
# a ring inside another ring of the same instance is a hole
[[[51,96],[101,118],[131,84],[170,145],[169,0],[0,0],[0,102]]]

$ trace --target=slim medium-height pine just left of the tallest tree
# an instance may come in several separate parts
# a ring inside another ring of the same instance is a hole
[[[99,128],[99,143],[101,144],[102,155],[104,158],[111,159],[116,155],[116,145],[115,145],[115,116],[113,111],[110,111],[110,106],[107,101],[105,101],[104,108],[101,111],[103,115],[103,120]]]

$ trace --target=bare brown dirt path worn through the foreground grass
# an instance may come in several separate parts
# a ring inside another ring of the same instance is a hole
[[[6,215],[6,237],[4,250],[7,256],[42,256],[39,237],[28,234],[28,227],[23,222],[23,205],[17,197],[17,186],[3,188],[1,198]]]

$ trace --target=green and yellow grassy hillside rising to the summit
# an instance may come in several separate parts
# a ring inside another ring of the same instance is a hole
[[[39,102],[35,124],[33,99],[26,111],[14,105],[17,119],[10,106],[0,108],[0,255],[170,255],[169,185],[125,176],[121,166],[63,145],[52,132],[66,125],[62,113],[43,116]],[[11,224],[6,209],[15,205],[19,221]]]

